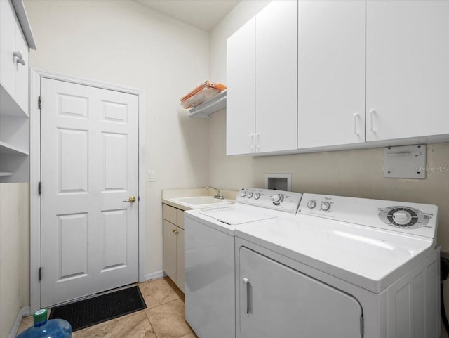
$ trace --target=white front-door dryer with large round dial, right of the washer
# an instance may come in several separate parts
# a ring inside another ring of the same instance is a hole
[[[434,205],[304,194],[295,219],[236,229],[236,337],[440,337],[437,223]]]

